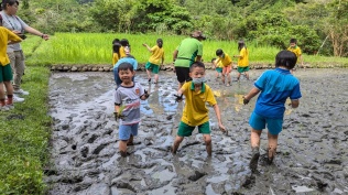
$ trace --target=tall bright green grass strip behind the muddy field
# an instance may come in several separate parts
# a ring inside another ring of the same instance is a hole
[[[113,39],[128,39],[131,44],[132,55],[139,63],[148,62],[150,53],[142,46],[143,43],[150,46],[155,45],[156,39],[163,39],[165,51],[165,63],[173,62],[173,52],[186,36],[156,35],[156,34],[111,34],[111,33],[56,33],[50,41],[42,41],[40,37],[29,37],[23,42],[23,48],[29,55],[28,65],[56,65],[56,64],[110,64]],[[40,46],[37,47],[37,43]],[[204,62],[210,62],[216,57],[215,51],[222,48],[230,56],[238,54],[237,43],[228,41],[203,41]],[[248,43],[250,51],[250,64],[274,64],[274,57],[280,48],[272,46],[260,46],[257,43]],[[33,52],[34,51],[34,52]],[[304,62],[307,64],[333,63],[348,66],[347,58],[311,56],[304,54]],[[236,63],[237,59],[233,58]]]

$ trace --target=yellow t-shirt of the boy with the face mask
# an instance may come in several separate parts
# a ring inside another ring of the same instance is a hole
[[[207,122],[209,120],[209,110],[206,107],[206,102],[210,106],[217,104],[211,88],[203,84],[202,89],[195,91],[195,85],[192,82],[187,82],[182,89],[186,98],[182,121],[192,127]]]

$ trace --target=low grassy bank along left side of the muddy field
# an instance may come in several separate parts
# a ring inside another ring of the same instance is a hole
[[[0,194],[44,194],[43,167],[48,161],[52,119],[47,116],[50,72],[29,67],[24,102],[0,115]]]

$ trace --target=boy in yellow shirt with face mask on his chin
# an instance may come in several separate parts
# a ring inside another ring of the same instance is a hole
[[[198,127],[198,132],[203,134],[203,139],[206,143],[207,153],[211,155],[211,137],[208,108],[206,102],[213,106],[216,113],[219,128],[221,131],[226,131],[226,128],[221,123],[221,116],[219,107],[216,102],[211,88],[205,84],[205,66],[200,62],[195,62],[189,67],[189,77],[192,82],[185,83],[181,89],[178,89],[176,101],[183,100],[183,95],[186,98],[185,108],[183,110],[182,121],[178,126],[177,136],[174,140],[172,152],[175,154],[184,137],[192,136],[195,127]]]

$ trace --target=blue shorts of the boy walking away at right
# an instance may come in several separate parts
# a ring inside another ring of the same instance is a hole
[[[252,129],[259,131],[264,129],[267,124],[269,132],[275,136],[282,131],[283,119],[271,119],[252,112],[249,119],[249,124],[252,127]]]

